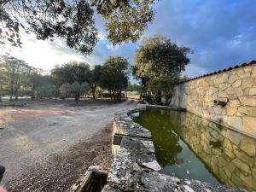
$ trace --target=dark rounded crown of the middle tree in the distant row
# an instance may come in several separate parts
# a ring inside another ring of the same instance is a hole
[[[89,78],[90,65],[85,62],[70,61],[61,67],[56,66],[51,75],[55,81],[55,85],[60,87],[61,84],[79,82],[82,84]]]

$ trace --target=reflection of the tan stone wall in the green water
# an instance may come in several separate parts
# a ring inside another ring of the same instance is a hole
[[[222,183],[256,190],[256,140],[182,113],[179,135]]]

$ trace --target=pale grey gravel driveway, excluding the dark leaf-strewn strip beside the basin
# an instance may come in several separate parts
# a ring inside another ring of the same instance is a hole
[[[65,154],[69,148],[86,142],[111,122],[114,113],[136,105],[136,102],[127,101],[90,106],[39,103],[27,107],[26,110],[34,110],[35,114],[39,111],[38,116],[19,119],[19,122],[15,118],[9,119],[9,123],[0,129],[0,165],[6,168],[2,184],[29,174],[32,167],[44,166],[49,157]],[[18,115],[23,113],[20,108],[11,109]],[[40,110],[49,110],[49,113],[45,115]]]

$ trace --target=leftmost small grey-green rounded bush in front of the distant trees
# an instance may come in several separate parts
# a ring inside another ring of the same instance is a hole
[[[36,89],[35,95],[38,98],[51,98],[56,95],[56,88],[53,84],[44,84]]]

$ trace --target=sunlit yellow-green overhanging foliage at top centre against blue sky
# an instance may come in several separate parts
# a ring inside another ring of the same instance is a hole
[[[136,42],[148,22],[154,20],[151,5],[156,0],[92,0],[97,12],[107,21],[108,39],[115,45]]]

